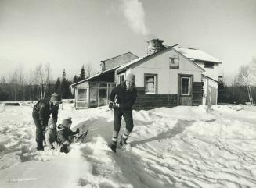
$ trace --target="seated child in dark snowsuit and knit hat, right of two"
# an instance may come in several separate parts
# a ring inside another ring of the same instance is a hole
[[[70,126],[72,124],[71,118],[64,119],[62,124],[59,124],[57,127],[57,138],[58,142],[62,144],[62,147],[60,148],[60,152],[68,153],[68,146],[74,139],[74,135],[79,133],[79,129],[77,129],[75,132],[70,130]]]

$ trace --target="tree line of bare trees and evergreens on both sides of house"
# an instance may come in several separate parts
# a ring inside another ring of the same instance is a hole
[[[74,98],[70,90],[72,83],[85,80],[92,75],[92,66],[86,64],[81,67],[79,76],[68,80],[65,69],[62,76],[52,80],[52,69],[49,63],[39,64],[29,73],[24,73],[19,66],[9,74],[8,78],[0,78],[0,101],[34,101],[48,98],[54,92],[62,98]],[[218,83],[218,103],[245,104],[256,103],[256,59],[240,66],[239,73],[234,77],[231,85],[225,83],[225,78]]]

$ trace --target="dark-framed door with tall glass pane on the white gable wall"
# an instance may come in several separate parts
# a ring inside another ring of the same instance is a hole
[[[179,105],[192,105],[192,75],[179,75],[178,97]]]

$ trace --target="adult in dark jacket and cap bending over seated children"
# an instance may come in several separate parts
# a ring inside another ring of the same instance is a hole
[[[52,94],[50,100],[41,99],[36,105],[34,105],[32,116],[34,119],[34,124],[36,126],[36,142],[38,144],[38,151],[44,150],[44,132],[51,114],[52,118],[55,119],[55,121],[57,122],[60,103],[60,95]]]

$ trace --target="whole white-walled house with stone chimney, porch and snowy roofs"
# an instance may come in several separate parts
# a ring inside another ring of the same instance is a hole
[[[128,73],[135,74],[138,89],[135,109],[215,104],[218,74],[213,72],[222,62],[204,51],[178,44],[166,46],[163,42],[147,41],[147,53],[142,57],[128,52],[125,58],[119,55],[102,61],[102,73],[72,85],[76,89],[76,107],[106,105],[110,90]]]

